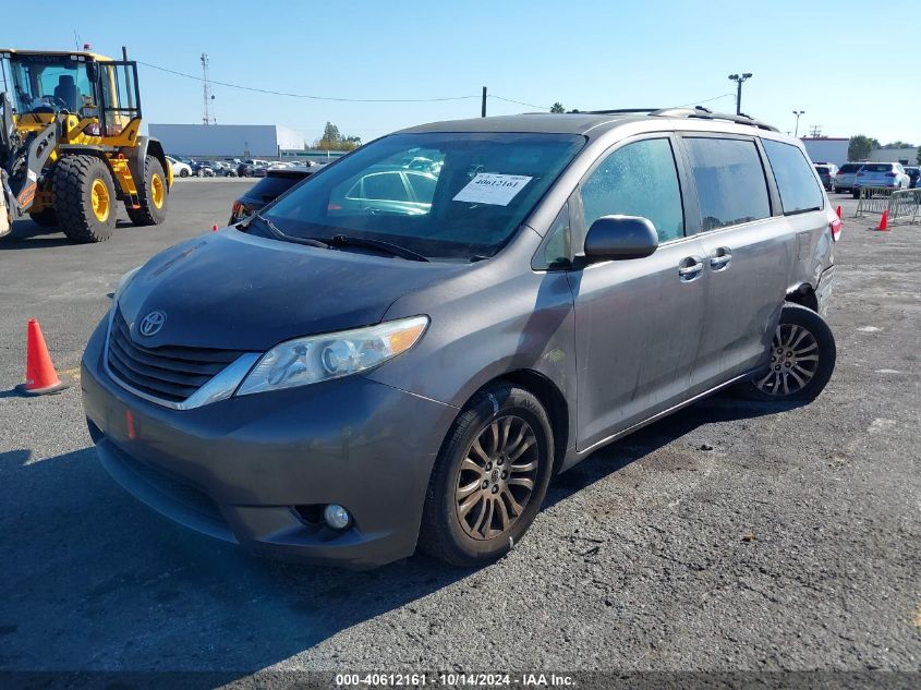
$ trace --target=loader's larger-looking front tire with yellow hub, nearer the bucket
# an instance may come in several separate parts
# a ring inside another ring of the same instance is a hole
[[[116,185],[104,160],[64,156],[54,166],[54,215],[73,242],[105,242],[118,219]]]

